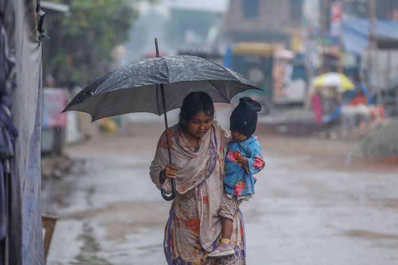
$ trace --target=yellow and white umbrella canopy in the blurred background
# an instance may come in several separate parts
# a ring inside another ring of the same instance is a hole
[[[341,73],[325,73],[317,76],[312,82],[313,87],[337,87],[339,92],[354,90],[355,85],[344,74]]]

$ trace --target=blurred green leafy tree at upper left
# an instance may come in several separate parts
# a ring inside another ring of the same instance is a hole
[[[70,15],[48,13],[43,41],[43,81],[56,87],[85,86],[108,72],[112,49],[127,41],[138,11],[134,0],[52,0],[70,6]]]

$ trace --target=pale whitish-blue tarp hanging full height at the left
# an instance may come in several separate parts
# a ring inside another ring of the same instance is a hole
[[[16,161],[22,190],[22,265],[43,265],[41,224],[41,36],[38,32],[36,0],[16,3],[16,89],[13,93],[13,121],[19,136]]]

